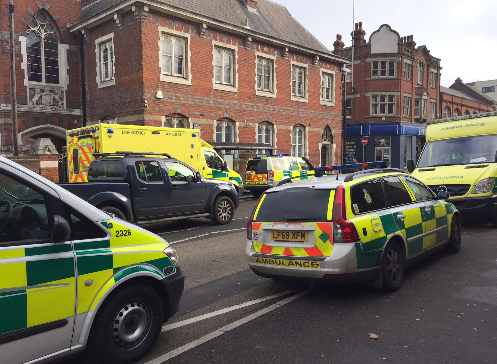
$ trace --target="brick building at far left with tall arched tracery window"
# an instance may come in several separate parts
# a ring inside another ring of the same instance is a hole
[[[18,143],[21,152],[29,155],[37,139],[50,138],[60,152],[66,144],[66,129],[81,125],[78,39],[68,29],[68,25],[81,18],[81,2],[14,2]],[[0,153],[7,156],[13,151],[8,16],[6,1],[3,1],[0,6]]]

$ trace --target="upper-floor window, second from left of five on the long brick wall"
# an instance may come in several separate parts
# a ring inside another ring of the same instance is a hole
[[[237,47],[212,41],[213,88],[238,92]]]

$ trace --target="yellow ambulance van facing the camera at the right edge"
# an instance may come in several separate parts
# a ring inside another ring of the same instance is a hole
[[[462,218],[490,218],[497,227],[497,112],[428,121],[408,170],[433,191],[448,191]]]

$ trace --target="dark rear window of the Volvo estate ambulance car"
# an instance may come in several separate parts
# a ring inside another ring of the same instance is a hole
[[[266,193],[257,213],[258,222],[314,222],[328,220],[331,190],[286,188]]]

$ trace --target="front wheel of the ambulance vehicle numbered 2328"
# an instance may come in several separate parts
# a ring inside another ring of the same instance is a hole
[[[117,291],[93,321],[88,355],[101,364],[134,363],[156,342],[163,318],[163,303],[153,288],[131,285]]]

